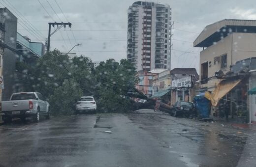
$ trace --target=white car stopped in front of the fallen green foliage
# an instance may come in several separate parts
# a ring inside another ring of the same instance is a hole
[[[93,96],[82,96],[81,99],[76,102],[76,113],[82,113],[83,111],[96,112],[97,104]]]

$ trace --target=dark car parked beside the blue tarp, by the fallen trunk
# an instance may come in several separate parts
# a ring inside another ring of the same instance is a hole
[[[195,113],[194,105],[190,102],[178,101],[172,107],[170,114],[173,116],[189,117]]]

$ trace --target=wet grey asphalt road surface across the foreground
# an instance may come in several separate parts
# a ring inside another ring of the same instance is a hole
[[[256,132],[141,110],[0,126],[0,167],[256,167]]]

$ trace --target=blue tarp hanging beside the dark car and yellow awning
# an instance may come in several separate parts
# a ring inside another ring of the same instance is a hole
[[[210,113],[210,101],[204,97],[204,93],[199,93],[194,97],[196,110],[200,118],[208,118]]]

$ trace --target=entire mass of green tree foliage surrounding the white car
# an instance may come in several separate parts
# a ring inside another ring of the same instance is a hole
[[[126,59],[120,63],[109,59],[95,69],[88,57],[69,59],[54,50],[38,59],[33,67],[19,67],[25,91],[41,92],[49,98],[53,114],[72,114],[76,100],[82,95],[94,96],[99,111],[130,110],[125,95],[134,88],[137,79],[134,67]]]

